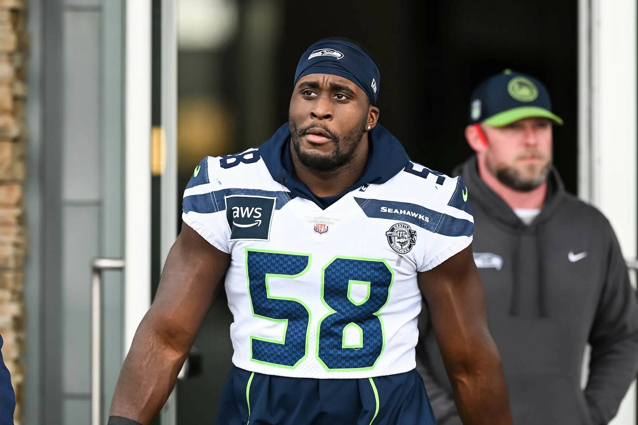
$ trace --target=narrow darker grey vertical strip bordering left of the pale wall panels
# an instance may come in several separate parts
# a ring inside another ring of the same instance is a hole
[[[62,420],[62,122],[63,66],[62,12],[60,0],[42,2],[43,15],[43,119],[42,152],[42,264],[40,359],[40,418],[38,423],[59,425]],[[31,87],[29,87],[31,89]],[[29,95],[31,97],[31,94]],[[30,145],[30,143],[29,143]],[[30,229],[31,230],[31,229]],[[31,248],[31,247],[30,247]],[[28,367],[28,366],[27,366]],[[28,384],[27,384],[28,385]]]

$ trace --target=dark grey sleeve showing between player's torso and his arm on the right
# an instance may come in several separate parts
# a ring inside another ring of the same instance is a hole
[[[459,425],[461,418],[456,411],[454,398],[450,391],[434,378],[431,373],[431,366],[427,358],[424,338],[427,333],[433,332],[428,313],[427,306],[424,305],[419,315],[419,342],[417,343],[417,372],[423,379],[426,386],[427,398],[430,401],[436,423],[439,425]]]

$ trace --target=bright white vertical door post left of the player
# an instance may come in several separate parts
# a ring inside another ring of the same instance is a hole
[[[124,12],[124,353],[151,305],[151,0]]]

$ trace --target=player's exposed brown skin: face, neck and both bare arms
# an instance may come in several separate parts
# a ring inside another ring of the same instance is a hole
[[[292,147],[294,141],[291,143],[300,180],[318,196],[339,194],[350,187],[366,167],[367,126],[373,129],[378,117],[378,108],[369,104],[355,83],[324,74],[301,78],[290,99],[291,131],[296,128],[302,133],[300,155]],[[308,136],[305,129],[315,129],[308,131],[315,135]],[[334,160],[339,166],[318,170],[308,165],[315,160],[321,164]],[[110,415],[147,424],[158,414],[229,265],[230,254],[212,247],[182,224],[155,300],[122,366]],[[471,246],[432,270],[418,273],[417,282],[430,306],[463,423],[512,424],[501,359],[487,329],[484,292]]]

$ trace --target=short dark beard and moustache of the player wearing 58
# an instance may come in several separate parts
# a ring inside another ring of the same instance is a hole
[[[357,126],[350,129],[343,137],[339,137],[339,134],[330,131],[330,129],[322,124],[310,124],[301,129],[297,129],[295,123],[288,117],[288,123],[290,124],[290,143],[292,148],[297,154],[299,161],[304,166],[315,169],[316,171],[334,171],[338,168],[345,166],[352,161],[355,149],[359,146],[359,141],[363,137],[364,131],[366,131],[366,119],[357,124]],[[306,134],[306,131],[316,127],[320,128],[330,135],[334,149],[329,154],[308,152],[301,147],[301,138]],[[342,146],[344,149],[342,149]]]

